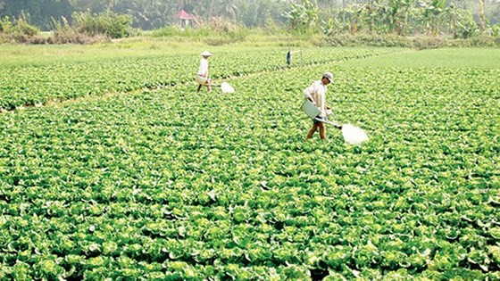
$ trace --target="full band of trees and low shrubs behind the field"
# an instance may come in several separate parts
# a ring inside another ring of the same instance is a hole
[[[179,29],[181,10],[194,15],[196,30]],[[446,44],[406,37],[487,36],[493,38],[451,45],[495,45],[500,33],[496,0],[0,0],[0,16],[0,42],[23,43],[94,43],[156,30],[156,37],[212,37],[207,43],[221,45],[258,29],[321,35],[328,45],[421,47]],[[47,39],[38,30],[52,32]]]

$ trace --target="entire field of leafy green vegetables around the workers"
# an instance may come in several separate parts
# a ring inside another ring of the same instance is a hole
[[[0,70],[0,279],[500,280],[500,65],[427,52],[214,52],[235,94],[188,54]],[[304,141],[326,70],[368,143]]]

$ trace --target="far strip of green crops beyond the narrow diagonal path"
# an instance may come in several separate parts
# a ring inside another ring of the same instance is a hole
[[[342,50],[304,49],[296,65],[342,61],[386,54],[387,48]],[[212,58],[214,79],[279,70],[286,67],[282,50],[262,49],[246,53],[222,53]],[[298,55],[297,55],[298,56]],[[0,70],[0,109],[63,101],[109,92],[129,92],[144,87],[184,84],[194,79],[198,57],[166,55],[102,62],[54,63]]]

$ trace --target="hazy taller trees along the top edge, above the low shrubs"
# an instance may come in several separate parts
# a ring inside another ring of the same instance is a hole
[[[137,29],[176,24],[184,10],[198,24],[221,18],[247,28],[283,26],[297,32],[409,35],[441,31],[454,37],[497,32],[500,0],[0,0],[0,16],[23,17],[40,29],[75,12],[128,14]],[[63,20],[64,19],[64,20]]]

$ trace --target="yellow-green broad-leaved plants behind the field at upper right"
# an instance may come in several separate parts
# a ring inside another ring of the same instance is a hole
[[[339,19],[344,18],[345,21]],[[351,4],[334,18],[322,21],[325,34],[350,32],[440,36],[454,38],[479,35],[479,26],[471,11],[443,0],[416,3],[410,0],[371,1]]]

